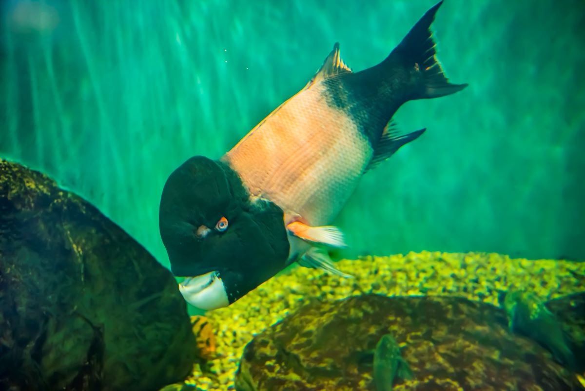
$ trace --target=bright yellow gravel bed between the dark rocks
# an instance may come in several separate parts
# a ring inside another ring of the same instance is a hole
[[[202,390],[234,390],[233,380],[247,342],[311,297],[426,294],[467,297],[498,305],[498,293],[511,286],[532,290],[543,299],[585,290],[585,262],[510,259],[494,253],[411,252],[341,260],[336,266],[354,277],[346,279],[294,266],[228,308],[208,312],[221,355],[212,363],[216,379],[196,367],[188,383]]]

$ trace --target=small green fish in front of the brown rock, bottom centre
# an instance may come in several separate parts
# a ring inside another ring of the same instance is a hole
[[[392,391],[395,378],[412,379],[412,371],[400,355],[400,346],[394,337],[385,334],[378,341],[374,351],[376,391]]]

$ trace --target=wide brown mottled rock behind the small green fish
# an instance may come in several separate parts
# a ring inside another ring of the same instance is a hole
[[[511,334],[503,310],[455,297],[312,301],[256,335],[236,374],[239,391],[374,390],[372,351],[391,334],[412,370],[393,390],[542,390],[576,378],[531,339]]]

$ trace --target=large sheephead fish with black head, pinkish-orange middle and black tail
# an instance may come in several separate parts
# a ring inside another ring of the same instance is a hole
[[[345,246],[331,221],[360,177],[425,129],[391,123],[409,100],[463,90],[436,59],[430,30],[439,2],[381,63],[352,72],[333,46],[324,64],[219,160],[195,156],[167,179],[160,234],[185,300],[228,306],[292,262],[335,269]]]

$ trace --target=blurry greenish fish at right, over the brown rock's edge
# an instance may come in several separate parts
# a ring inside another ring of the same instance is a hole
[[[511,332],[526,335],[544,345],[557,361],[574,371],[576,361],[558,318],[545,302],[530,291],[508,290],[504,310]]]

